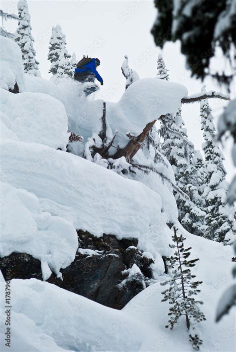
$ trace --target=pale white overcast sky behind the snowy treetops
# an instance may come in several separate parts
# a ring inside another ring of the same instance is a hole
[[[130,68],[136,70],[140,78],[156,75],[156,61],[160,48],[156,47],[150,29],[156,17],[153,0],[28,0],[31,15],[32,34],[35,39],[39,69],[43,78],[50,78],[47,60],[51,27],[60,24],[66,35],[67,49],[76,53],[77,59],[83,54],[98,57],[101,66],[98,71],[104,79],[104,86],[95,93],[96,98],[118,101],[124,91],[125,79],[120,66],[127,54]],[[17,0],[2,0],[0,8],[8,13],[17,14]],[[8,20],[6,29],[15,31],[17,21]],[[162,51],[171,81],[184,84],[189,94],[199,92],[203,83],[190,78],[185,68],[185,57],[180,53],[180,44],[167,43]],[[216,63],[225,66],[223,59]],[[217,89],[225,93],[210,78],[204,82],[207,90]],[[234,92],[235,93],[235,92]],[[215,117],[215,124],[226,102],[209,100]],[[201,150],[203,137],[200,129],[200,106],[198,103],[182,106],[189,139],[196,149]],[[228,172],[228,180],[234,173],[231,158],[231,143],[223,150]]]

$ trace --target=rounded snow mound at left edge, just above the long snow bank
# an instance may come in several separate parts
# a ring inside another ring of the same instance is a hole
[[[0,89],[0,111],[8,117],[7,128],[20,141],[66,150],[68,126],[61,102],[42,93],[12,94]]]

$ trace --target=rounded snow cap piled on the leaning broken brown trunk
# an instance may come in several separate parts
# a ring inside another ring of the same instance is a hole
[[[118,103],[107,103],[109,125],[123,137],[127,131],[138,135],[149,122],[176,112],[187,94],[187,88],[178,83],[139,79],[126,89]]]

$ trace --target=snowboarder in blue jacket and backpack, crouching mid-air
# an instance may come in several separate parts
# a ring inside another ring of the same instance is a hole
[[[103,85],[103,79],[97,71],[97,67],[100,65],[98,58],[83,57],[75,68],[75,80],[84,82],[94,82],[95,78]]]

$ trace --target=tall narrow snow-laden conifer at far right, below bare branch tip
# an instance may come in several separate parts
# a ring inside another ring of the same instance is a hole
[[[202,91],[204,92],[204,85]],[[228,182],[226,170],[223,165],[225,160],[215,136],[215,125],[208,99],[202,100],[200,105],[201,129],[203,130],[203,151],[206,160],[204,190],[206,200],[206,230],[204,237],[231,244],[235,240],[235,211],[233,206],[227,205]]]

